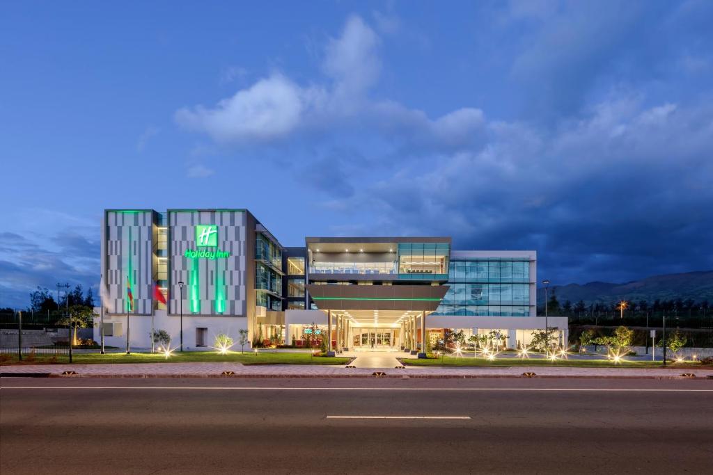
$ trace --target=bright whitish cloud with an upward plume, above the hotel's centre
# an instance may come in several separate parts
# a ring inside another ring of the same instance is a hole
[[[322,83],[303,86],[272,73],[214,108],[182,108],[175,120],[228,145],[279,143],[304,133],[355,126],[409,147],[462,147],[478,139],[483,124],[479,109],[464,107],[430,119],[421,110],[369,98],[381,73],[380,44],[374,29],[361,17],[350,16],[342,34],[324,46]]]

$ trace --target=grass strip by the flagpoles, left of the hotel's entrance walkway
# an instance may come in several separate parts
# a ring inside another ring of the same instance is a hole
[[[38,365],[69,362],[68,356],[58,355],[53,360],[49,355],[36,355],[34,360],[28,361],[27,355],[23,355],[23,361],[17,360],[17,355],[12,355],[11,360],[3,360],[1,365]],[[257,355],[252,351],[240,353],[240,351],[230,351],[227,355],[220,355],[215,351],[187,351],[180,353],[174,351],[170,357],[165,357],[158,353],[75,353],[72,356],[73,363],[163,363],[163,362],[240,362],[243,365],[346,365],[350,360],[348,357],[322,357],[312,356],[309,353],[263,353]]]

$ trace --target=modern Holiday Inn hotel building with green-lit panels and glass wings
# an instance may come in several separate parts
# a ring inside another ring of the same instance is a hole
[[[307,237],[284,247],[247,209],[107,209],[101,254],[95,340],[103,330],[107,345],[125,344],[127,322],[134,348],[150,347],[152,329],[185,350],[247,330],[246,348],[330,335],[334,352],[414,354],[424,336],[432,348],[451,330],[518,348],[545,328],[535,251],[456,251],[449,237]],[[567,318],[548,326],[567,341]]]

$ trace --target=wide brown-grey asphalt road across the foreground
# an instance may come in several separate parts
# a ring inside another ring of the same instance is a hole
[[[0,385],[2,474],[696,474],[713,466],[709,380]]]

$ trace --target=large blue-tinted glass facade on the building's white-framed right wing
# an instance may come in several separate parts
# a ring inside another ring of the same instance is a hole
[[[451,261],[448,286],[434,315],[530,315],[530,263],[526,259]]]

